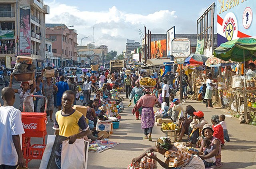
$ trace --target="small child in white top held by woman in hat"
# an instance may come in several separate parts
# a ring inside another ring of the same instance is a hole
[[[213,150],[213,146],[211,145],[211,141],[208,140],[208,139],[203,140],[202,146],[204,147],[204,155],[209,154]],[[205,167],[212,167],[213,165],[215,165],[216,157],[213,156],[211,158],[204,159],[203,161],[204,161],[204,166]]]

